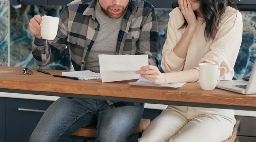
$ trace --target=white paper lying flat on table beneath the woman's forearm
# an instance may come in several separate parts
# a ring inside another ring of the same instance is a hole
[[[170,84],[154,84],[151,81],[141,78],[137,82],[129,82],[130,85],[138,85],[138,86],[154,86],[154,87],[172,87],[179,88],[182,87],[186,83],[170,83]]]

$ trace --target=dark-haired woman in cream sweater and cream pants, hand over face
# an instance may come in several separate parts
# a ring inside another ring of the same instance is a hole
[[[222,80],[232,80],[242,41],[242,15],[233,0],[179,0],[170,13],[161,73],[143,66],[136,73],[155,84],[196,82],[198,64],[223,66]],[[232,135],[234,110],[168,106],[139,142],[221,142]]]

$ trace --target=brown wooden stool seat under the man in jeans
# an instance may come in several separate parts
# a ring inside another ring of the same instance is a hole
[[[150,119],[141,119],[138,127],[132,132],[130,136],[135,135],[148,127]],[[95,125],[86,126],[75,131],[71,136],[97,138],[97,129]]]

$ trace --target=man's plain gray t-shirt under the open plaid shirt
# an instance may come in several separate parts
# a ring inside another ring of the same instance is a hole
[[[98,55],[116,54],[117,37],[123,17],[119,19],[111,19],[99,9],[97,4],[95,9],[95,17],[100,23],[100,29],[86,59],[85,69],[93,72],[100,72]]]

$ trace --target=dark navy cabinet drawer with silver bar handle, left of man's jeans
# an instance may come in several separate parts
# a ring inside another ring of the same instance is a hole
[[[46,110],[52,102],[6,98],[6,141],[28,142],[33,130],[44,114],[43,110]]]

